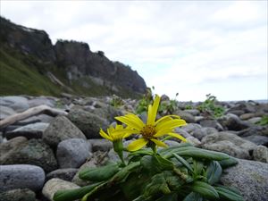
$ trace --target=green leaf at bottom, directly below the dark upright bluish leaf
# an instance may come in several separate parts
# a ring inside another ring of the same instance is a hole
[[[202,197],[213,200],[219,199],[219,194],[215,188],[203,181],[195,181],[191,188],[194,192],[199,193]]]

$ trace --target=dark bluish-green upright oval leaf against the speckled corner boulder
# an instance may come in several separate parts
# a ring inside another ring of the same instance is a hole
[[[222,167],[220,163],[213,161],[209,163],[208,168],[205,171],[205,177],[209,184],[217,183],[221,179]]]

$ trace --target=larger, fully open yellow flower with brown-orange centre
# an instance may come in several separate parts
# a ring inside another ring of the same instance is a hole
[[[147,123],[141,121],[138,116],[133,113],[115,117],[116,120],[121,121],[129,127],[129,129],[124,130],[124,133],[127,133],[128,136],[131,134],[142,135],[142,138],[138,138],[130,143],[127,147],[129,151],[136,151],[145,147],[149,142],[155,143],[158,147],[167,147],[163,141],[157,139],[164,135],[169,135],[174,138],[180,138],[182,141],[186,141],[186,138],[183,138],[180,134],[173,131],[177,127],[186,125],[186,121],[181,120],[180,116],[167,115],[155,121],[159,103],[160,97],[156,95],[154,104],[148,106]]]

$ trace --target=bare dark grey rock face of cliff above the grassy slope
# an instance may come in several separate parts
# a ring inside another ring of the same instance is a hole
[[[29,56],[33,58],[35,64],[38,62],[42,65],[54,66],[54,71],[56,69],[63,72],[62,80],[56,79],[61,83],[65,81],[68,88],[73,85],[84,89],[99,86],[105,88],[104,95],[107,92],[118,95],[121,95],[121,92],[124,95],[140,94],[147,88],[137,71],[132,71],[123,63],[110,61],[102,51],[96,53],[90,51],[86,43],[59,40],[53,46],[44,30],[25,28],[4,18],[0,20],[0,42],[5,48],[4,52],[6,49],[18,50],[28,58]],[[44,68],[42,71],[46,74]],[[45,71],[49,72],[51,78],[50,69],[47,67]]]

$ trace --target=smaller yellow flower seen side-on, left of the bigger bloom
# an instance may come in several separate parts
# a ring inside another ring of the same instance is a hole
[[[101,135],[101,137],[106,138],[112,142],[115,141],[119,141],[122,138],[127,138],[130,136],[130,133],[126,133],[123,131],[123,126],[122,125],[115,125],[115,128],[111,125],[108,129],[107,129],[107,133],[105,133],[104,130],[100,130],[99,134]]]

